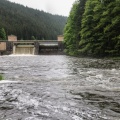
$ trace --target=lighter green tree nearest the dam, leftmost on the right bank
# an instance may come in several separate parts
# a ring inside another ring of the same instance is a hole
[[[79,48],[81,19],[86,0],[77,0],[73,4],[64,29],[64,43],[69,55],[77,55]]]

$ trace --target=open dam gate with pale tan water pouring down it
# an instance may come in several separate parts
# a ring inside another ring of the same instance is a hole
[[[13,47],[13,54],[35,54],[34,45],[17,45]]]

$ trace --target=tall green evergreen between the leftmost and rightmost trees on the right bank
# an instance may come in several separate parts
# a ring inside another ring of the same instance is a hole
[[[94,43],[95,43],[95,31],[94,27],[96,26],[99,20],[99,12],[98,9],[99,1],[98,0],[87,0],[85,5],[85,12],[82,18],[82,27],[81,27],[81,40],[79,43],[80,54],[90,55],[93,53]],[[97,7],[97,8],[96,8]],[[100,7],[99,7],[100,8]]]

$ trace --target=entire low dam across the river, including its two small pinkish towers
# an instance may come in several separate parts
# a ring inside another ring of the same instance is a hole
[[[59,35],[57,40],[17,40],[17,36],[9,35],[8,40],[0,40],[0,55],[63,52],[62,41],[62,35]]]

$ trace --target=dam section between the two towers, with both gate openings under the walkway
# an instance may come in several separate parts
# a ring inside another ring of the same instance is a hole
[[[57,40],[18,40],[13,42],[13,54],[41,54],[63,50],[62,41]]]

